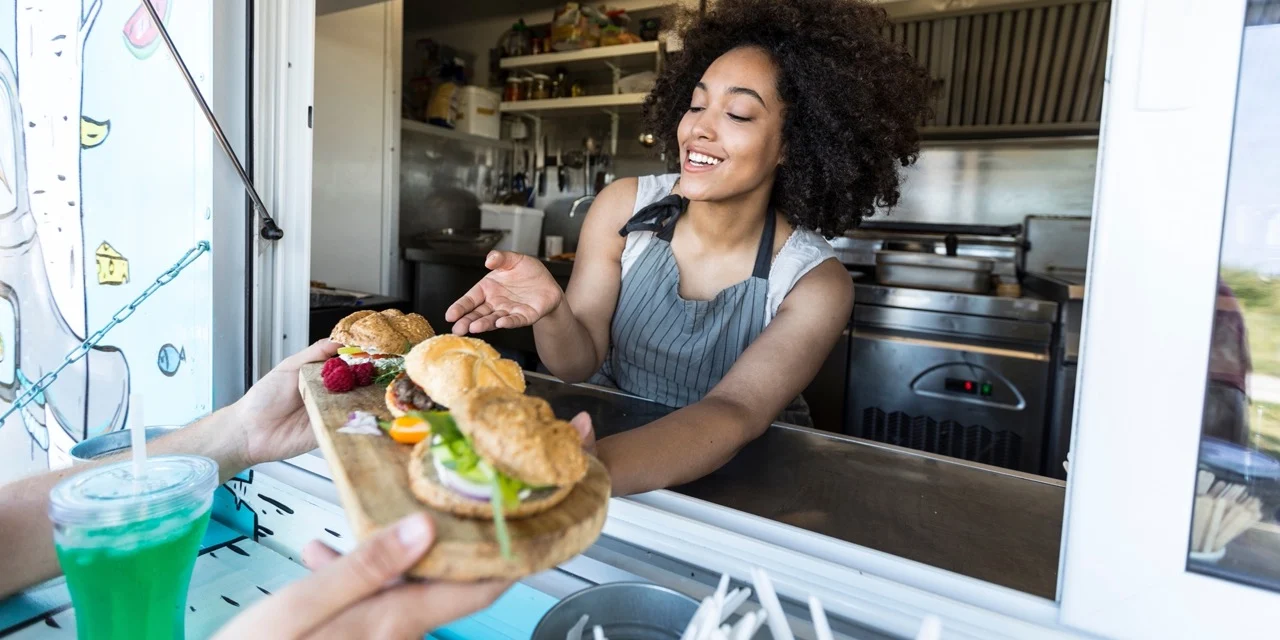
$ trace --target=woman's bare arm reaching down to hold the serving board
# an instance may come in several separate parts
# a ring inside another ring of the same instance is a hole
[[[599,442],[614,495],[689,483],[728,462],[813,380],[852,305],[852,280],[840,262],[828,260],[809,271],[705,398]]]

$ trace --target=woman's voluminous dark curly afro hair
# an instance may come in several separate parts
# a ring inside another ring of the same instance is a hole
[[[791,224],[841,236],[897,204],[900,166],[915,161],[929,114],[929,77],[881,35],[883,9],[863,0],[717,0],[681,17],[673,54],[645,100],[650,131],[678,156],[676,132],[703,73],[744,46],[778,69],[785,105],[773,205]]]

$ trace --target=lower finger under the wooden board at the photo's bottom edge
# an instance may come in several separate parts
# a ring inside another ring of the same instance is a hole
[[[399,585],[347,609],[308,637],[422,637],[488,607],[509,586],[498,581]]]

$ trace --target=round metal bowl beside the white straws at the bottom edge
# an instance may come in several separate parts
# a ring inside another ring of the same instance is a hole
[[[582,639],[603,627],[609,640],[678,640],[698,612],[698,600],[648,582],[608,582],[561,600],[543,616],[531,640],[564,640],[585,614]]]

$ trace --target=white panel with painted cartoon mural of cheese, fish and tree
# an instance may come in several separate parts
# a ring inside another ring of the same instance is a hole
[[[206,97],[212,0],[152,0]],[[141,0],[0,0],[0,412],[211,236],[207,124]],[[0,483],[212,397],[210,260],[0,425]]]

